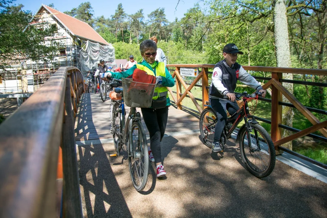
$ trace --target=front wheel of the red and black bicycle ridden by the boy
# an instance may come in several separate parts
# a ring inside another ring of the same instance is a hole
[[[262,126],[250,125],[251,132],[243,128],[240,133],[241,157],[252,175],[263,178],[269,176],[275,167],[275,148],[269,134]]]

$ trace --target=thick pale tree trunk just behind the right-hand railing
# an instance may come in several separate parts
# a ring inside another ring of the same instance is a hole
[[[275,49],[276,49],[276,60],[277,67],[291,67],[291,53],[289,49],[288,40],[288,28],[287,28],[287,17],[286,17],[286,6],[284,0],[274,0],[274,34],[275,34]],[[284,79],[293,79],[292,74],[283,74]],[[293,84],[284,83],[283,86],[293,94]],[[283,95],[283,102],[289,101]],[[293,126],[293,110],[291,107],[283,106],[282,110],[282,124],[286,126]],[[288,130],[282,130],[282,138],[291,135]],[[283,144],[292,150],[292,142]]]

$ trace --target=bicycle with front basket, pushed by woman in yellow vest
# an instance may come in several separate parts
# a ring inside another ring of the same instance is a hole
[[[132,79],[122,78],[122,86],[123,88],[115,88],[115,92],[120,93],[122,99],[120,103],[115,102],[112,108],[113,143],[117,155],[122,146],[126,145],[130,177],[134,188],[140,192],[146,185],[149,158],[141,114],[136,111],[136,108],[151,106],[156,84],[134,82]],[[125,104],[130,107],[126,121]]]

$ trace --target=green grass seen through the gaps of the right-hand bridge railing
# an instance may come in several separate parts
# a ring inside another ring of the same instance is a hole
[[[176,86],[172,87],[171,89],[176,92]],[[182,86],[181,93],[183,94],[184,92],[185,92],[185,89]],[[191,90],[191,92],[194,95],[194,97],[202,99],[202,88],[194,87]],[[170,97],[170,100],[173,100],[173,98],[171,98],[170,93],[169,93],[169,97]],[[174,93],[174,97],[176,98],[175,93]],[[198,104],[201,106],[202,102],[198,101]],[[186,106],[188,108],[197,110],[194,103],[192,102],[192,100],[188,97],[185,97],[183,99],[182,105]],[[308,121],[308,119],[305,118],[301,114],[301,112],[299,112],[297,109],[294,108],[293,112],[294,112],[293,128],[303,130],[303,129],[306,129],[306,128],[312,126],[310,121]],[[254,111],[253,115],[267,119],[267,120],[271,120],[271,103],[264,102],[264,101],[258,101],[256,110]],[[327,119],[326,116],[320,116],[317,118],[319,118],[319,120],[321,122],[325,121]],[[270,124],[267,124],[267,123],[264,123],[261,121],[259,123],[261,126],[263,126],[267,130],[267,132],[269,134],[271,134]],[[244,124],[244,120],[239,124],[238,127],[242,126],[243,124]],[[319,131],[316,131],[313,134],[322,136],[322,134]],[[304,139],[304,138],[306,138],[306,139]],[[307,140],[307,141],[305,141],[305,140]],[[298,139],[297,141],[294,140],[293,141],[293,150],[304,156],[318,160],[319,162],[326,163],[326,161],[327,161],[327,150],[326,150],[327,143],[316,142],[316,141],[313,141],[311,138],[309,140],[308,140],[308,137],[302,137],[302,138]],[[305,145],[305,146],[303,146],[303,145]],[[309,146],[309,148],[307,146]]]

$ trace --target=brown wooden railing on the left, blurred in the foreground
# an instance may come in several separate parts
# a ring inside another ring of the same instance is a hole
[[[60,67],[0,125],[0,217],[82,217],[74,116],[85,88]]]

